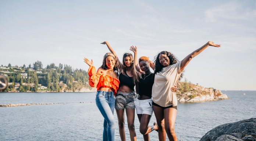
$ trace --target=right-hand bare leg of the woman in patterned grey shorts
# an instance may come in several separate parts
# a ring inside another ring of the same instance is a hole
[[[128,129],[130,132],[130,138],[131,141],[136,141],[136,132],[135,132],[135,127],[134,127],[134,116],[135,116],[135,108],[126,108],[125,109],[126,116],[127,116],[127,123],[128,123]]]

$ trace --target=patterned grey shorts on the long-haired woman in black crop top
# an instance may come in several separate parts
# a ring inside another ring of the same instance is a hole
[[[117,91],[115,94],[115,109],[135,108],[134,93]]]

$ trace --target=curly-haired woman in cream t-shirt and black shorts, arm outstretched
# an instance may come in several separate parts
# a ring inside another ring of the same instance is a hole
[[[155,60],[154,84],[152,88],[153,110],[159,126],[159,141],[166,140],[166,133],[170,141],[177,141],[174,124],[177,115],[177,97],[171,92],[176,85],[182,71],[190,60],[209,46],[220,47],[209,41],[199,49],[186,56],[181,62],[167,51],[160,52]]]

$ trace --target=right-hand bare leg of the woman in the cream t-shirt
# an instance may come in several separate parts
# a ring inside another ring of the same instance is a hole
[[[167,136],[170,141],[177,141],[177,136],[174,130],[177,110],[175,108],[164,109],[164,123]]]

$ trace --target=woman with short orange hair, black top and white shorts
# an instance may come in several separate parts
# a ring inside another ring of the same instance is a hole
[[[135,58],[137,58],[137,48],[132,46],[131,50],[134,52]],[[141,73],[141,78],[136,85],[136,92],[139,94],[136,100],[135,107],[139,118],[140,127],[139,131],[143,134],[144,141],[149,141],[149,133],[153,130],[158,131],[157,123],[153,126],[148,126],[150,118],[153,114],[152,107],[152,86],[154,84],[154,74],[151,73],[150,67],[154,69],[154,63],[149,60],[149,57],[142,56],[134,61],[136,70]],[[172,87],[171,90],[176,92],[177,87]]]

